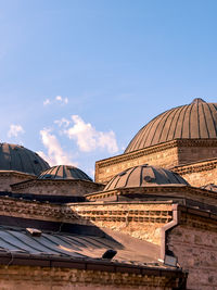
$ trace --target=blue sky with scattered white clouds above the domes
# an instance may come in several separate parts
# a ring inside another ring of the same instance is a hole
[[[216,102],[216,14],[215,0],[0,0],[0,140],[91,175],[163,111]]]

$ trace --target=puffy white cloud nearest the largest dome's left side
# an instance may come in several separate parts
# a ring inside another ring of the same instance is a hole
[[[78,115],[72,115],[74,126],[64,133],[74,139],[80,151],[90,152],[97,149],[107,150],[110,153],[118,151],[114,131],[97,131],[90,123],[85,123]]]

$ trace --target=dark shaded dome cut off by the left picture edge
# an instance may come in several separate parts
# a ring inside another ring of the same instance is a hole
[[[38,175],[49,167],[43,159],[23,146],[0,143],[0,171],[16,171]]]

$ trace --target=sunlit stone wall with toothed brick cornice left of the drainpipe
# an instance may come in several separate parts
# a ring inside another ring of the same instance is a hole
[[[171,204],[118,203],[71,205],[80,217],[77,223],[91,222],[100,228],[129,234],[133,238],[161,244],[161,228],[171,220]]]

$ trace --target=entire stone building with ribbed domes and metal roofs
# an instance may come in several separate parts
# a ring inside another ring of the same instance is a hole
[[[217,289],[217,104],[156,116],[126,151],[50,167],[0,146],[0,289]]]

